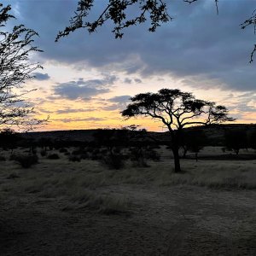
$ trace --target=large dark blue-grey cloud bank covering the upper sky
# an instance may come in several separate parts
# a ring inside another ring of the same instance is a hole
[[[255,38],[252,29],[241,30],[239,26],[253,13],[253,1],[219,1],[219,15],[214,1],[166,2],[174,20],[155,33],[149,33],[149,25],[145,24],[127,29],[124,38],[116,40],[111,26],[106,24],[98,33],[89,35],[80,30],[61,38],[57,44],[55,36],[67,26],[77,1],[35,4],[15,0],[12,5],[19,7],[19,20],[39,32],[36,43],[44,49],[40,53],[42,60],[80,68],[108,66],[115,71],[143,76],[170,74],[177,79],[193,80],[192,85],[197,88],[204,86],[203,77],[218,81],[222,88],[255,90],[255,64],[247,65]],[[96,3],[94,13],[100,9],[102,1]]]

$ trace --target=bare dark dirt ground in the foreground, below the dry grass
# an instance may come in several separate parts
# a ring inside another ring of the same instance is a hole
[[[256,255],[256,191],[122,185],[129,213],[63,211],[65,201],[2,200],[1,255]],[[102,191],[101,191],[102,192]]]

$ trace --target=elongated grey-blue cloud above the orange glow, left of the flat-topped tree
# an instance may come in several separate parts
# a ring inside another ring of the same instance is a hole
[[[90,99],[91,96],[102,95],[110,91],[109,87],[116,81],[115,76],[103,79],[78,79],[67,83],[59,83],[54,87],[55,95],[69,100]]]

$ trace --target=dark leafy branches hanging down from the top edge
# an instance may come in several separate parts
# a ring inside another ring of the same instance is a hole
[[[96,29],[102,26],[106,21],[113,22],[113,34],[115,38],[122,38],[124,29],[129,26],[137,26],[149,20],[149,32],[155,32],[156,28],[162,23],[172,21],[172,16],[168,13],[167,3],[170,0],[108,0],[107,3],[102,4],[102,11],[100,11],[96,20],[89,21],[90,13],[95,7],[95,0],[80,0],[75,15],[70,20],[70,25],[63,31],[59,32],[55,41],[69,35],[80,28],[87,29],[88,32],[96,32]],[[195,3],[198,0],[183,0],[184,3]],[[218,0],[212,0],[216,5],[218,14]],[[241,3],[242,4],[242,3]],[[132,16],[130,10],[136,9],[137,15]],[[247,20],[241,23],[241,29],[247,26],[254,26],[256,31],[256,12]],[[256,44],[251,53],[250,62],[253,61],[253,54],[256,51]]]

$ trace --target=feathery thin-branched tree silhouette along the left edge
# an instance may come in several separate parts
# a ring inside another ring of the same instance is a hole
[[[8,31],[7,21],[15,18],[9,14],[10,10],[10,5],[3,7],[0,3],[0,128],[19,125],[27,129],[43,120],[29,118],[33,109],[25,103],[24,97],[29,91],[19,94],[18,90],[33,78],[33,71],[42,68],[29,61],[32,53],[41,50],[33,45],[33,38],[38,33],[32,29],[20,25]]]

